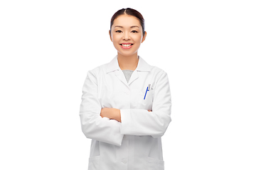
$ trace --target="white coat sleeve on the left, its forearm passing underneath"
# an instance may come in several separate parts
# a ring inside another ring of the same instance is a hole
[[[92,71],[87,73],[82,86],[82,102],[80,104],[80,121],[82,132],[87,138],[121,146],[123,136],[117,120],[100,116],[101,104],[97,98],[97,79]]]

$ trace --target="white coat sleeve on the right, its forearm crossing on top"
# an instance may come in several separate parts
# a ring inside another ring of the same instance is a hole
[[[163,71],[154,89],[152,112],[144,109],[121,109],[121,134],[161,137],[171,122],[171,91]]]

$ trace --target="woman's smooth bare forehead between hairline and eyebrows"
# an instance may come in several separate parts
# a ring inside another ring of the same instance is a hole
[[[129,15],[121,15],[114,19],[114,26],[122,26],[122,27],[131,27],[131,26],[139,26],[142,27],[139,19],[135,16]]]

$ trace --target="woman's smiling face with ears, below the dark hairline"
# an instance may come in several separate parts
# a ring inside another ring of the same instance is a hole
[[[135,16],[121,15],[114,19],[110,39],[118,55],[137,55],[139,46],[144,42],[142,26]]]

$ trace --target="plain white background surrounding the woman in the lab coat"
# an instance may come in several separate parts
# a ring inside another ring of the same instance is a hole
[[[169,74],[166,170],[256,169],[255,1],[1,1],[0,169],[87,169],[87,71],[117,54],[110,18],[145,18],[146,62]],[[104,170],[104,169],[102,169]]]

